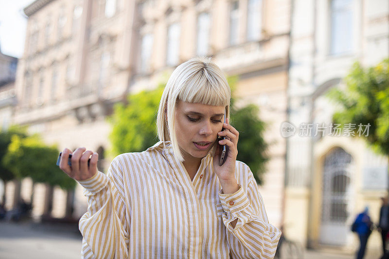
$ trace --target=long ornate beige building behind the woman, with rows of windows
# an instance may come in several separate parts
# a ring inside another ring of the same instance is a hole
[[[237,75],[238,105],[255,103],[268,122],[270,161],[261,186],[270,221],[283,210],[290,3],[288,0],[36,0],[28,16],[18,66],[14,120],[29,125],[59,149],[109,150],[106,116],[128,93],[166,81],[185,60],[210,56],[226,75]],[[106,170],[109,157],[100,164]],[[10,184],[12,185],[12,184]],[[32,183],[22,182],[28,201]],[[45,189],[35,184],[34,210],[44,210]],[[13,187],[7,188],[12,195]],[[54,189],[52,215],[65,215],[66,194]],[[9,207],[12,204],[8,204]],[[86,211],[81,186],[73,217]]]

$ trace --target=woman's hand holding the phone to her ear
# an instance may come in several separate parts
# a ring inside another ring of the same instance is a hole
[[[235,178],[235,162],[236,156],[238,155],[239,132],[229,124],[228,118],[227,123],[223,123],[223,128],[224,130],[218,132],[217,135],[221,137],[226,136],[226,139],[218,140],[218,142],[220,145],[227,145],[229,151],[227,154],[227,158],[225,158],[224,164],[220,166],[219,148],[216,149],[216,152],[213,156],[213,169],[215,170],[215,173],[219,178],[220,183],[222,184],[223,190],[225,190],[230,189],[228,187],[231,187],[232,189],[237,187],[237,181]]]

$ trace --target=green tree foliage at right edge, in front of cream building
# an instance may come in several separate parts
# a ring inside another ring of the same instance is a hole
[[[369,68],[355,63],[344,81],[345,90],[334,88],[328,93],[340,105],[334,122],[370,124],[369,135],[361,137],[374,150],[389,155],[389,59]]]

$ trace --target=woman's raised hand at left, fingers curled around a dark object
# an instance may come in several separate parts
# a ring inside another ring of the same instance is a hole
[[[99,160],[99,155],[96,152],[85,150],[85,147],[79,147],[74,151],[74,153],[71,153],[71,150],[65,148],[62,152],[59,168],[76,181],[86,180],[97,173],[97,161]],[[72,154],[71,166],[68,164],[69,154]],[[88,159],[90,155],[92,155],[92,157],[90,158],[88,166]]]

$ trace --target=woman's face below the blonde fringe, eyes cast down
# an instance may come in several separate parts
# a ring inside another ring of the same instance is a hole
[[[224,106],[178,101],[176,136],[184,159],[205,157],[217,139],[224,122]]]

